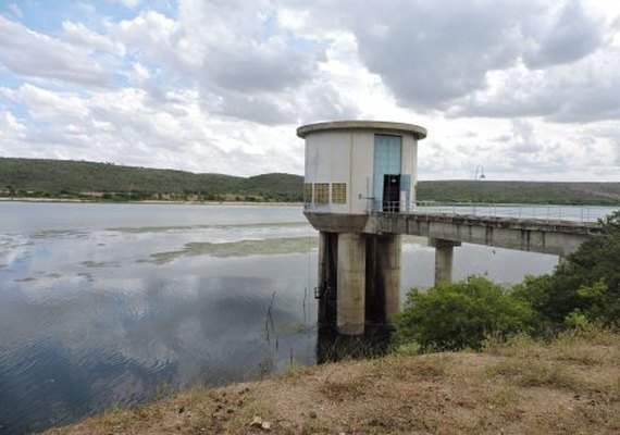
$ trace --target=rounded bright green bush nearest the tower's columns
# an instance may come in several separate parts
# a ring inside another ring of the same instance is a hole
[[[412,289],[397,318],[395,343],[414,341],[422,351],[480,349],[487,334],[530,332],[534,312],[482,276]]]

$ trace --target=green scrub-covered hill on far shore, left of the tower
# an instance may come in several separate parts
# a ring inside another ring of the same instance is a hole
[[[0,158],[0,195],[108,200],[301,201],[303,178],[238,177],[71,160]]]

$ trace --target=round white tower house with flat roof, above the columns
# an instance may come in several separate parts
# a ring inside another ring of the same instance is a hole
[[[416,200],[418,140],[413,124],[338,121],[303,125],[306,210],[365,214],[407,212]]]

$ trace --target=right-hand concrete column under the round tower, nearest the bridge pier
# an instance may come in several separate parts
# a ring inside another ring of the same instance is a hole
[[[400,310],[400,238],[380,237],[376,246],[379,285],[385,289],[385,324],[392,326]]]

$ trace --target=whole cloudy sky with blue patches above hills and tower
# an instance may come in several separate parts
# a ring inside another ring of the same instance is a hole
[[[422,179],[620,182],[617,0],[1,0],[0,157],[303,173],[419,124]]]

